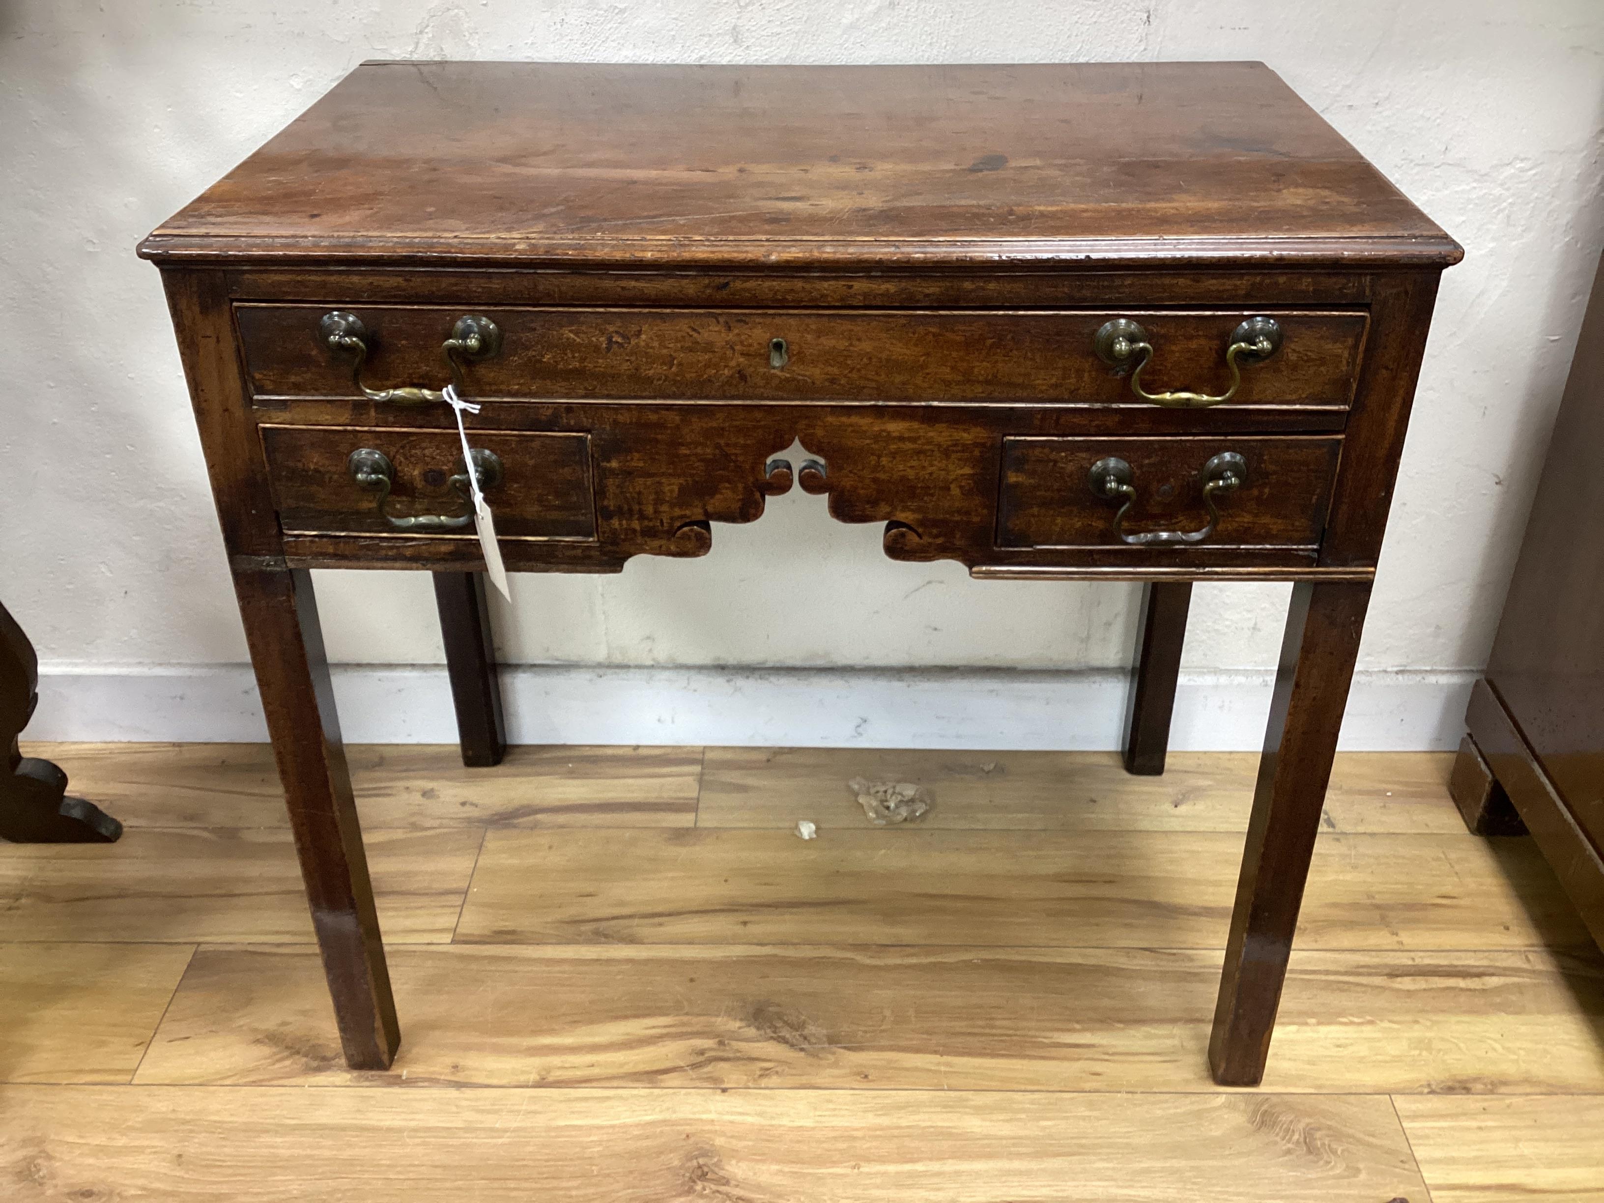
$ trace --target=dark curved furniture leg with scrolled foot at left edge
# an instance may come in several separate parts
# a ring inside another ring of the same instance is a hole
[[[93,802],[67,797],[67,775],[50,760],[22,755],[18,736],[38,704],[38,656],[16,619],[0,606],[0,839],[13,844],[111,844],[122,823]]]

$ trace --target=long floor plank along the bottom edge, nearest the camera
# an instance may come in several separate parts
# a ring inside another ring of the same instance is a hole
[[[6,1088],[0,1166],[18,1203],[1424,1203],[1339,1096]]]

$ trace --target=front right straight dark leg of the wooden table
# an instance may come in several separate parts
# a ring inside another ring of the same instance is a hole
[[[1293,585],[1208,1049],[1221,1086],[1264,1076],[1368,602],[1368,582]]]

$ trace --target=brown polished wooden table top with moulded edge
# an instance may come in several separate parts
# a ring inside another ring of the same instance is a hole
[[[1461,255],[1261,63],[367,63],[141,253],[731,268]]]

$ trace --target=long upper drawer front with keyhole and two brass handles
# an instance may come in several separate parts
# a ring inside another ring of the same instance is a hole
[[[366,388],[441,388],[443,345],[468,310],[351,306],[366,346]],[[319,335],[329,306],[236,308],[258,398],[353,398],[356,348]],[[1221,395],[1237,327],[1262,313],[1278,350],[1243,359],[1230,406],[1343,409],[1362,353],[1363,311],[893,311],[893,310],[480,310],[499,334],[464,359],[475,396],[536,399],[781,399],[1062,403],[1144,406],[1131,363],[1099,358],[1110,321],[1152,346],[1150,393]],[[776,342],[778,340],[778,342]]]

